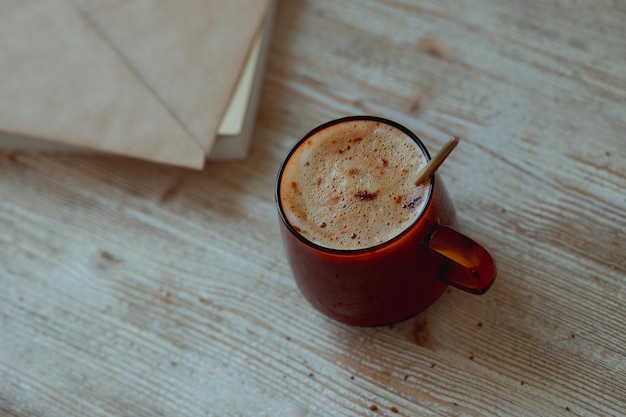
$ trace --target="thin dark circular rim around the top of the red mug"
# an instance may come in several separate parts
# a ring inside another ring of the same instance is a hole
[[[426,148],[424,143],[421,141],[421,139],[415,133],[413,133],[410,129],[408,129],[407,127],[401,125],[398,122],[386,119],[384,117],[379,117],[379,116],[355,115],[355,116],[340,117],[338,119],[334,119],[334,120],[330,120],[328,122],[325,122],[325,123],[323,123],[323,124],[313,128],[313,129],[311,129],[301,139],[299,139],[291,147],[289,152],[287,152],[287,154],[283,158],[283,161],[280,164],[280,168],[278,170],[278,175],[276,177],[276,185],[275,185],[275,189],[274,189],[274,199],[276,201],[276,206],[278,207],[278,213],[279,213],[280,219],[283,222],[283,224],[285,225],[285,227],[287,227],[289,232],[292,235],[294,235],[298,240],[300,240],[302,243],[304,243],[305,245],[307,245],[307,246],[309,246],[311,248],[314,248],[314,249],[316,249],[318,251],[331,253],[331,254],[335,254],[335,255],[357,255],[357,254],[362,254],[362,253],[369,253],[369,252],[372,252],[372,251],[376,251],[376,250],[382,249],[382,248],[384,248],[386,246],[389,246],[389,245],[393,244],[395,241],[400,240],[402,237],[404,237],[404,235],[409,233],[415,227],[415,225],[417,223],[420,222],[422,217],[428,211],[428,208],[431,205],[431,202],[432,202],[432,199],[433,199],[433,190],[434,190],[434,187],[435,187],[435,175],[431,175],[431,177],[430,177],[430,187],[428,189],[428,194],[427,194],[427,198],[426,198],[426,204],[424,205],[424,208],[422,209],[422,212],[420,213],[420,215],[417,216],[415,218],[415,220],[409,226],[407,226],[405,229],[403,229],[402,232],[398,233],[396,236],[392,237],[391,239],[388,239],[388,240],[384,241],[383,243],[379,243],[379,244],[374,245],[374,246],[368,246],[368,247],[365,247],[365,248],[358,248],[358,249],[336,249],[336,248],[329,248],[327,246],[319,245],[319,244],[317,244],[317,243],[307,239],[301,233],[299,233],[293,227],[293,225],[291,224],[289,219],[287,219],[287,216],[285,215],[285,212],[283,210],[283,205],[282,205],[281,198],[280,198],[280,182],[281,182],[281,179],[282,179],[282,176],[283,176],[283,172],[285,171],[285,167],[287,166],[287,162],[289,162],[289,160],[291,159],[293,154],[296,152],[296,150],[300,147],[300,145],[302,145],[307,139],[309,139],[311,136],[315,135],[317,132],[319,132],[321,130],[324,130],[324,129],[330,127],[330,126],[334,126],[334,125],[337,125],[337,124],[340,124],[340,123],[347,123],[347,122],[351,122],[351,121],[355,121],[355,120],[366,120],[366,121],[380,122],[380,123],[384,123],[386,125],[392,126],[392,127],[396,128],[396,129],[400,130],[401,132],[406,134],[408,137],[410,137],[419,146],[419,148],[422,150],[422,152],[426,156],[426,161],[430,161],[431,160],[431,156],[430,156],[430,153],[428,152],[428,149]]]

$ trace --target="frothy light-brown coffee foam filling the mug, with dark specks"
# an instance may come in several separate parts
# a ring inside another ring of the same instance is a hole
[[[327,127],[287,162],[280,200],[307,240],[362,249],[399,235],[421,214],[429,183],[415,184],[426,156],[397,128],[372,120]]]

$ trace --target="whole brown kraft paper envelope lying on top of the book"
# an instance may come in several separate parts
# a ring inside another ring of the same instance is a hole
[[[0,131],[201,168],[269,0],[0,0]]]

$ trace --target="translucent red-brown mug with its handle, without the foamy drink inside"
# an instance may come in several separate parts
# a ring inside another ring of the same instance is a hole
[[[294,152],[324,129],[353,121],[375,121],[403,132],[404,126],[379,117],[352,116],[325,123],[307,133],[287,154],[278,173],[276,204],[288,262],[310,304],[338,321],[385,325],[408,319],[431,305],[448,285],[472,294],[486,292],[496,277],[492,257],[478,243],[457,232],[456,214],[441,178],[430,178],[425,206],[399,235],[372,247],[332,249],[307,239],[292,225],[281,202],[281,180]]]

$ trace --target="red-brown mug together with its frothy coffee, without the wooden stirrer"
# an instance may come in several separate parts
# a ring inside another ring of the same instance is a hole
[[[309,132],[276,184],[282,238],[296,283],[322,313],[355,325],[406,319],[448,285],[481,294],[495,279],[489,253],[454,230],[430,155],[390,120],[354,116]]]

